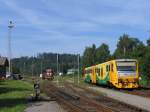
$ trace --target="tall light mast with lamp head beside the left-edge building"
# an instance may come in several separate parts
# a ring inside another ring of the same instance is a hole
[[[9,25],[8,25],[8,60],[9,60],[9,75],[11,75],[11,67],[12,67],[12,64],[11,64],[11,29],[14,27],[12,21],[9,22]]]

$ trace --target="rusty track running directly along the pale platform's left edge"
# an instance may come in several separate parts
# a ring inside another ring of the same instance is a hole
[[[72,85],[72,84],[70,84],[70,85]],[[66,86],[70,86],[70,85],[66,84]],[[75,89],[76,87],[81,88],[81,87],[76,86],[76,85],[72,85],[71,88]],[[86,96],[88,96],[88,98],[92,98],[92,99],[96,100],[97,102],[102,103],[103,105],[113,109],[115,112],[148,112],[147,110],[143,110],[141,108],[138,108],[138,107],[114,100],[112,98],[102,96],[97,92],[91,91],[90,89],[83,89],[83,88],[81,88],[81,89],[83,90],[82,95],[86,95]],[[81,92],[80,92],[80,94],[81,94]]]

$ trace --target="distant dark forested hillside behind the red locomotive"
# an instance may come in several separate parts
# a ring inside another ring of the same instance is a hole
[[[60,72],[66,73],[68,69],[77,67],[77,55],[74,54],[58,54],[58,69]],[[56,53],[40,53],[32,57],[20,57],[12,60],[13,73],[21,73],[25,75],[39,75],[47,68],[57,71],[57,54]]]

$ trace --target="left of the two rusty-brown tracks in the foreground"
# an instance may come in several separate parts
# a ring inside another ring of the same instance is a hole
[[[71,89],[66,90],[49,84],[45,90],[50,97],[55,97],[58,103],[61,102],[61,105],[68,107],[69,112],[113,112],[112,109],[74,93]]]

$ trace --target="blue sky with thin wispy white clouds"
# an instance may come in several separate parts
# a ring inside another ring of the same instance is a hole
[[[86,46],[106,43],[111,53],[124,33],[150,37],[150,0],[0,0],[0,55],[42,52],[81,55]]]

